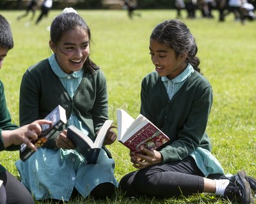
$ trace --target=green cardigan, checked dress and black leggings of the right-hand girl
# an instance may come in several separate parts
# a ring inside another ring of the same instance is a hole
[[[121,189],[129,195],[202,193],[203,177],[223,175],[205,133],[212,100],[211,85],[190,64],[172,80],[159,77],[156,71],[143,78],[140,112],[170,142],[158,149],[163,163],[125,175],[120,180]]]

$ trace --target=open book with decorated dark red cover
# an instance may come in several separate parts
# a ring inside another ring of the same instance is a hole
[[[133,152],[143,154],[140,146],[153,151],[170,140],[168,136],[143,115],[140,114],[134,120],[125,110],[118,109],[116,113],[117,140]]]

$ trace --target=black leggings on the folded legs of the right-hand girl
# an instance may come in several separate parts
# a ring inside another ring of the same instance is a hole
[[[157,164],[128,173],[120,180],[120,189],[127,196],[171,197],[202,193],[204,174],[193,157],[188,156],[182,161]]]

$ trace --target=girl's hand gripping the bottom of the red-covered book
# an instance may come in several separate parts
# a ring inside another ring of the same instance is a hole
[[[130,151],[132,166],[138,169],[146,168],[155,164],[163,163],[163,156],[157,150],[150,151],[147,148],[141,146],[140,150],[145,153],[138,154]]]

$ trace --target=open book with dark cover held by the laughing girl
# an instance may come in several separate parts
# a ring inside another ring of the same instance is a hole
[[[77,152],[86,159],[88,164],[97,163],[99,157],[100,149],[104,143],[105,136],[108,133],[109,128],[111,128],[113,120],[106,120],[103,126],[100,128],[99,133],[95,141],[84,134],[81,130],[77,129],[75,126],[68,126],[67,137],[76,146]]]

